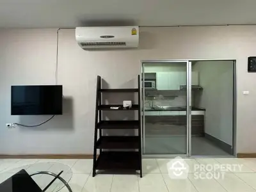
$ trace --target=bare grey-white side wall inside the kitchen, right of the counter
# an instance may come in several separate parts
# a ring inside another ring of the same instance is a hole
[[[195,106],[205,108],[205,132],[232,145],[233,62],[198,61],[199,84],[204,90],[194,95]]]

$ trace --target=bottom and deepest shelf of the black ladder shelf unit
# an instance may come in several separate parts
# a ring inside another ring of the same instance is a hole
[[[97,159],[97,170],[140,170],[139,152],[102,152]]]

